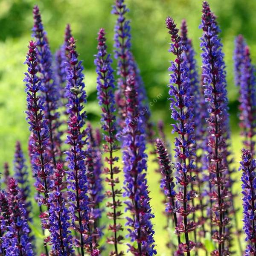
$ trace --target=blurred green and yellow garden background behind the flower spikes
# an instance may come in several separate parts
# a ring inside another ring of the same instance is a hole
[[[221,38],[224,44],[225,62],[227,65],[227,89],[230,107],[230,124],[232,128],[232,148],[236,167],[239,162],[239,151],[242,147],[239,137],[237,118],[238,88],[233,83],[233,41],[242,33],[256,60],[256,1],[251,0],[209,0],[210,6],[218,16],[221,27]],[[100,27],[107,32],[109,51],[113,50],[113,27],[116,17],[111,15],[113,0],[0,0],[0,169],[5,161],[12,167],[14,145],[20,140],[24,151],[27,149],[29,136],[25,120],[26,95],[24,93],[23,65],[26,46],[31,39],[32,7],[38,4],[41,9],[44,27],[48,33],[52,52],[63,42],[64,28],[70,23],[80,59],[84,60],[85,84],[88,104],[86,111],[93,126],[99,125],[100,111],[96,99],[96,74],[93,55],[96,53],[96,35]],[[152,119],[163,119],[169,140],[170,111],[168,98],[168,66],[172,56],[168,52],[169,35],[164,20],[172,16],[177,24],[183,18],[188,23],[188,34],[197,52],[198,67],[200,59],[200,36],[198,29],[201,20],[201,0],[127,0],[131,19],[132,52],[140,67],[150,101],[157,102],[151,107]],[[115,62],[113,67],[115,67]],[[199,68],[198,68],[199,69]],[[199,71],[200,72],[200,71]],[[156,214],[154,220],[156,242],[159,255],[169,255],[165,247],[167,230],[163,230],[161,195],[154,173],[154,163],[149,160],[149,186],[152,207]],[[236,191],[240,190],[239,173],[236,174]],[[236,201],[240,207],[240,195]],[[35,206],[35,205],[34,205]],[[36,206],[35,206],[36,207]],[[241,215],[239,215],[239,224]],[[36,225],[36,224],[35,224]],[[35,226],[35,230],[37,226]],[[39,236],[39,235],[38,235]],[[235,243],[236,244],[236,243]],[[236,251],[236,247],[234,247]],[[239,255],[239,254],[236,254]]]

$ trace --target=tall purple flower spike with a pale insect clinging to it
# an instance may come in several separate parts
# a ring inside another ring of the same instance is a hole
[[[68,136],[66,143],[70,145],[70,150],[66,152],[68,166],[70,171],[67,172],[68,180],[68,198],[71,205],[71,215],[73,228],[80,233],[80,242],[76,247],[81,247],[81,255],[84,256],[84,246],[91,244],[88,237],[88,196],[87,196],[87,177],[85,157],[86,151],[83,150],[87,143],[84,137],[86,132],[82,131],[86,113],[83,111],[83,103],[86,103],[86,93],[84,90],[83,66],[78,60],[76,44],[73,37],[69,40],[67,46],[68,65],[67,70],[67,113]],[[78,226],[76,223],[78,222]]]

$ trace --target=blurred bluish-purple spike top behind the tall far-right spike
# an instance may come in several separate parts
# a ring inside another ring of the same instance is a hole
[[[246,44],[244,37],[238,35],[235,40],[235,51],[234,51],[234,73],[235,73],[235,84],[240,87],[241,84],[241,65],[244,61],[244,48]]]

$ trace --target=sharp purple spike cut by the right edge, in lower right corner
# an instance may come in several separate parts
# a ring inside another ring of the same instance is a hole
[[[244,232],[247,247],[244,255],[256,255],[256,160],[248,149],[242,149],[239,170],[242,171],[242,194],[244,207]]]

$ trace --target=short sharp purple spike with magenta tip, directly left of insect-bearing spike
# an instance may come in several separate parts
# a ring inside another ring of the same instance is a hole
[[[51,255],[71,256],[73,255],[73,242],[70,227],[69,210],[64,199],[62,190],[64,170],[61,163],[57,163],[53,175],[53,188],[49,196],[49,244],[52,245]]]

